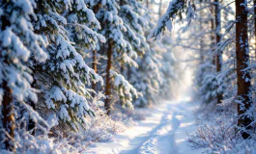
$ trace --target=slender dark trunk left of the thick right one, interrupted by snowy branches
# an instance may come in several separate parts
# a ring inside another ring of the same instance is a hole
[[[214,5],[215,5],[215,33],[216,33],[216,46],[220,42],[221,39],[221,34],[220,34],[220,28],[221,28],[221,23],[220,23],[220,5],[219,5],[219,0],[214,0]],[[216,72],[219,73],[221,71],[221,66],[222,66],[222,53],[218,53],[216,55]],[[222,93],[217,93],[217,104],[221,103],[221,100],[223,99]]]

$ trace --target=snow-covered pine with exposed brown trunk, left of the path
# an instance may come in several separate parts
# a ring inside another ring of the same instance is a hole
[[[111,75],[111,72],[118,72],[117,69],[114,69],[116,65],[119,67],[120,65],[124,64],[137,65],[133,60],[137,57],[137,54],[133,49],[133,45],[139,44],[140,40],[134,35],[131,29],[126,26],[125,21],[120,16],[121,7],[118,1],[88,0],[87,3],[91,8],[94,8],[95,6],[100,6],[96,16],[101,23],[101,30],[99,31],[99,33],[106,39],[106,44],[100,44],[100,49],[105,51],[103,54],[107,57],[105,68],[105,109],[107,111],[107,114],[109,114],[113,101],[115,101],[115,99],[122,99],[122,97],[124,96],[119,95],[121,94],[120,92],[118,92],[119,90],[113,90],[112,83],[116,80],[115,77],[118,76]],[[122,87],[120,87],[120,90],[121,89]],[[129,91],[127,92],[129,93]],[[130,101],[124,102],[124,104],[129,102]]]

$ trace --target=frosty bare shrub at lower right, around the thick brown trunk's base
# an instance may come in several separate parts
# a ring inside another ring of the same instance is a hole
[[[223,101],[217,105],[214,112],[202,110],[197,115],[197,129],[194,133],[188,134],[187,141],[193,148],[203,148],[205,153],[221,154],[253,154],[256,151],[255,131],[248,132],[251,138],[242,139],[240,131],[242,128],[237,127],[237,112],[235,97]],[[252,116],[254,107],[250,111]],[[255,119],[255,118],[254,118]],[[255,122],[251,123],[252,125]],[[254,126],[253,126],[254,127]]]

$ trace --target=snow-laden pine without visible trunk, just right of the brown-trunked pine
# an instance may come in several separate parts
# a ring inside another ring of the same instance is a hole
[[[158,67],[159,55],[156,50],[150,48],[146,40],[145,32],[148,30],[148,20],[146,19],[147,10],[135,0],[124,1],[121,6],[120,16],[128,28],[128,40],[131,41],[132,48],[137,53],[136,66],[127,66],[128,81],[136,90],[142,93],[133,104],[136,106],[145,106],[155,102],[155,96],[158,93],[160,85],[160,72]],[[132,42],[134,35],[139,39],[138,42]]]

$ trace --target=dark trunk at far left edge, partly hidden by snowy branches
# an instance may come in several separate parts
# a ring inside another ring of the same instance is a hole
[[[5,1],[4,3],[8,3]],[[1,29],[4,31],[7,27],[11,25],[9,19],[6,16],[2,16],[2,27]],[[6,57],[1,57],[4,59],[5,64],[9,64]],[[8,80],[8,79],[7,79]],[[6,139],[3,142],[4,148],[10,151],[15,152],[14,147],[14,100],[13,100],[13,91],[8,87],[8,82],[6,80],[3,81],[1,85],[2,89],[4,90],[3,93],[3,100],[2,100],[2,122],[3,122],[3,129],[5,132],[4,138]],[[8,136],[6,135],[8,134]]]

